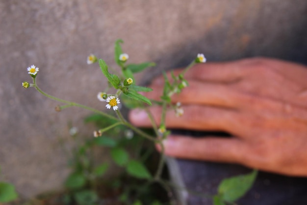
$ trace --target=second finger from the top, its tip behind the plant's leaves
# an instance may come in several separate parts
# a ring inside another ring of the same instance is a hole
[[[154,85],[153,91],[146,93],[150,99],[160,100],[163,90],[162,85]],[[179,94],[171,97],[172,102],[181,102],[182,104],[200,104],[214,105],[228,108],[240,107],[246,99],[242,92],[231,89],[223,84],[203,83],[192,81],[187,88],[181,90]]]

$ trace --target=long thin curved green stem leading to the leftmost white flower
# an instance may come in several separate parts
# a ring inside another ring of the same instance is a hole
[[[102,111],[99,111],[99,110],[96,110],[96,109],[94,109],[94,108],[91,108],[91,107],[88,107],[88,106],[85,106],[85,105],[81,105],[81,104],[78,104],[78,103],[75,103],[75,102],[70,102],[70,101],[67,101],[67,100],[63,100],[63,99],[60,99],[60,98],[57,98],[57,97],[54,97],[54,96],[52,96],[52,95],[47,94],[46,92],[44,92],[43,90],[41,90],[41,89],[37,86],[35,78],[33,78],[33,84],[34,84],[34,88],[35,88],[38,92],[40,92],[42,95],[44,95],[44,96],[46,96],[46,97],[48,97],[48,98],[50,98],[50,99],[52,99],[52,100],[55,100],[55,101],[58,101],[58,102],[61,102],[61,103],[65,103],[65,104],[67,104],[67,106],[80,107],[80,108],[83,108],[83,109],[85,109],[85,110],[89,110],[89,111],[92,111],[92,112],[94,112],[94,113],[100,114],[100,115],[102,115],[102,116],[104,116],[104,117],[108,117],[108,118],[110,118],[110,119],[113,119],[113,120],[117,120],[117,121],[118,121],[118,119],[117,119],[116,117],[113,117],[113,116],[111,116],[111,115],[108,115],[108,114],[106,114],[106,113],[103,113]]]

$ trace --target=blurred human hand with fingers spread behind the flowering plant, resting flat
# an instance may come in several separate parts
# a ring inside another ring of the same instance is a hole
[[[167,128],[225,131],[232,137],[170,135],[163,142],[165,154],[307,176],[307,67],[255,58],[197,64],[184,77],[189,87],[172,96],[184,114],[169,111]],[[159,100],[163,84],[163,78],[155,79],[146,96]],[[159,124],[161,108],[150,110]],[[129,119],[151,125],[144,111],[131,111]]]

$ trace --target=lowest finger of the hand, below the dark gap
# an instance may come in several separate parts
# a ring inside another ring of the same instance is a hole
[[[242,163],[247,146],[236,138],[192,138],[172,135],[163,141],[166,155],[216,162]],[[157,145],[161,151],[161,146]]]

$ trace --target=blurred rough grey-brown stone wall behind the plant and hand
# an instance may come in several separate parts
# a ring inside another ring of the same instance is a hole
[[[186,65],[197,53],[209,61],[267,56],[307,63],[305,0],[0,0],[0,165],[24,196],[61,185],[67,174],[59,138],[67,123],[83,126],[78,108],[58,104],[34,89],[26,68],[40,68],[38,85],[57,97],[103,109],[106,86],[94,53],[115,67],[113,43],[125,41],[131,62],[155,61],[162,69]],[[150,73],[150,75],[149,75]]]

